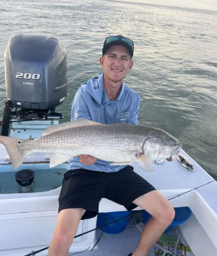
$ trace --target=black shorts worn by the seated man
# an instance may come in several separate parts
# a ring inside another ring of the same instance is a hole
[[[67,171],[59,196],[59,212],[69,208],[83,208],[86,212],[81,219],[90,219],[98,214],[102,198],[124,205],[128,211],[136,208],[137,205],[132,201],[156,189],[133,169],[128,165],[113,173],[86,169]]]

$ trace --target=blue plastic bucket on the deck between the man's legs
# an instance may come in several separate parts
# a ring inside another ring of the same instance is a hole
[[[97,227],[103,226],[104,224],[107,224],[115,220],[119,220],[122,217],[128,216],[131,213],[132,211],[115,211],[112,213],[98,213]],[[126,226],[128,225],[128,220],[129,220],[129,217],[123,220],[119,220],[108,226],[105,226],[104,232],[108,234],[118,234],[126,229]],[[100,229],[102,230],[103,228],[100,228]]]

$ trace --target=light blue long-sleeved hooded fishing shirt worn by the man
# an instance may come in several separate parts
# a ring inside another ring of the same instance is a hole
[[[109,101],[104,90],[104,73],[102,72],[78,89],[72,102],[71,121],[85,118],[102,124],[137,124],[139,104],[139,94],[123,83],[118,98]],[[83,168],[109,173],[126,167],[126,165],[109,165],[110,163],[113,162],[98,159],[93,165],[85,165],[80,163],[78,157],[74,157],[69,163],[68,170]]]

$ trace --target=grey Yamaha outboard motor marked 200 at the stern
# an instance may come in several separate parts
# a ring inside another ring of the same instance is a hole
[[[55,113],[55,107],[67,96],[65,47],[54,36],[12,36],[5,51],[5,81],[8,100],[1,135],[8,136],[11,118],[20,121],[62,118]]]

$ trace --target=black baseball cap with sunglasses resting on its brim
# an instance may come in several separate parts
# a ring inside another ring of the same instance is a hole
[[[121,35],[109,36],[105,39],[105,42],[103,45],[103,50],[102,50],[103,55],[108,50],[108,48],[110,48],[114,45],[124,46],[129,50],[131,57],[134,55],[134,42],[131,39],[126,38]]]

